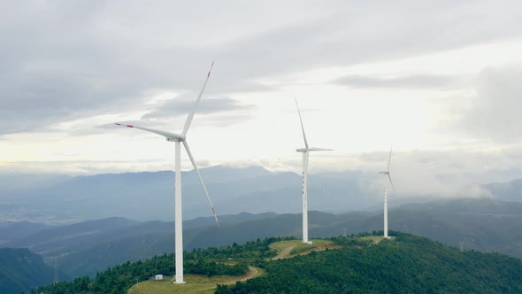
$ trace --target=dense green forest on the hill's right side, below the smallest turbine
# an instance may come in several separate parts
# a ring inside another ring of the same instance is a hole
[[[264,261],[267,275],[216,293],[522,293],[519,259],[395,236],[366,247],[334,238],[342,249]]]

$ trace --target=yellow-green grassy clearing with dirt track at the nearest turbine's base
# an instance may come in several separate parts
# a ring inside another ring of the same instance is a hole
[[[247,275],[242,277],[230,275],[217,275],[207,277],[204,275],[185,275],[184,284],[173,283],[173,277],[166,277],[163,281],[145,281],[134,285],[129,294],[171,294],[171,293],[187,293],[187,294],[207,294],[214,293],[217,284],[233,284],[237,281],[245,281],[264,275],[265,272],[258,267],[249,267]]]

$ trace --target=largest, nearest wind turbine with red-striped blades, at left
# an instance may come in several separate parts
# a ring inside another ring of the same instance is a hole
[[[209,193],[207,189],[204,186],[203,178],[201,177],[201,174],[199,174],[199,170],[196,166],[196,160],[194,160],[194,157],[192,156],[192,153],[190,152],[190,149],[188,148],[187,143],[187,131],[188,127],[190,127],[190,122],[194,118],[194,113],[196,112],[197,105],[199,104],[199,100],[203,96],[203,90],[205,89],[205,86],[207,85],[207,81],[209,81],[209,77],[211,76],[211,70],[212,66],[214,65],[214,62],[211,64],[211,69],[209,70],[209,74],[207,74],[207,77],[203,83],[203,88],[201,89],[201,92],[199,92],[199,96],[196,99],[196,104],[194,104],[194,107],[192,108],[192,111],[188,113],[187,120],[185,121],[185,127],[183,128],[183,132],[181,134],[174,134],[170,132],[165,132],[157,129],[152,128],[143,128],[138,127],[135,125],[127,125],[122,123],[116,123],[118,126],[127,127],[127,128],[139,128],[144,131],[154,133],[157,135],[163,135],[165,136],[166,141],[168,142],[174,142],[175,143],[175,180],[174,180],[174,205],[175,205],[175,211],[174,211],[174,225],[175,225],[175,263],[176,263],[176,283],[184,283],[183,281],[183,218],[181,217],[181,143],[183,143],[183,146],[185,147],[185,151],[187,151],[188,158],[192,162],[192,166],[194,166],[194,170],[196,171],[197,177],[199,178],[199,182],[201,182],[201,185],[203,187],[203,191],[209,200],[209,204],[212,208],[212,213],[214,213],[214,218],[216,219],[216,223],[219,227],[219,221],[218,221],[218,215],[216,214],[216,210],[214,209],[214,205],[212,205],[211,197],[209,196]]]

